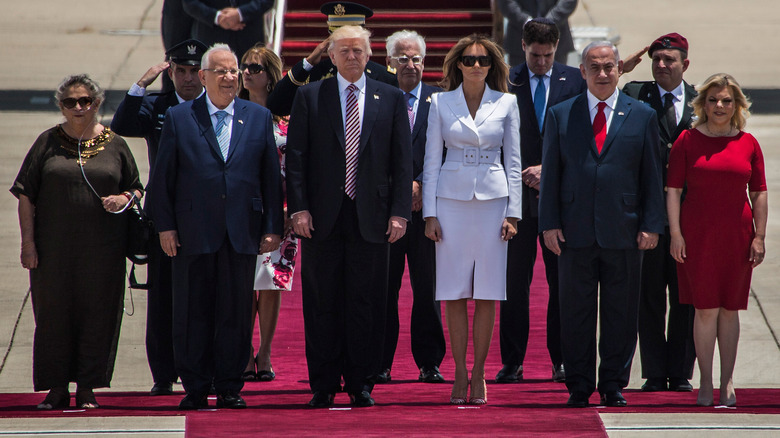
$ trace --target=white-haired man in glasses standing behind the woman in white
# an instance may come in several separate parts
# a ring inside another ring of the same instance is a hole
[[[425,68],[425,40],[417,32],[402,30],[387,38],[387,65],[398,77],[398,86],[404,92],[409,129],[412,131],[412,220],[406,235],[390,245],[390,274],[387,288],[387,321],[385,347],[382,354],[382,372],[377,383],[390,381],[390,369],[398,345],[398,292],[404,275],[404,265],[409,263],[409,280],[412,286],[411,337],[412,356],[420,370],[418,380],[425,383],[444,383],[439,365],[444,359],[446,341],[441,324],[441,305],[434,298],[436,278],[436,248],[425,237],[425,221],[422,218],[422,167],[425,155],[428,109],[431,94],[441,88],[422,83]]]

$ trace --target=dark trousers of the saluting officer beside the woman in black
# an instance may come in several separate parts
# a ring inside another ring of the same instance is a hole
[[[149,245],[146,300],[146,359],[156,382],[175,382],[173,359],[173,278],[171,258],[156,236]]]

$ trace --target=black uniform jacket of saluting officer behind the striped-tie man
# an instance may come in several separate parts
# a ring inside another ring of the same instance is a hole
[[[295,92],[298,91],[298,87],[334,77],[336,73],[338,73],[338,70],[327,54],[310,71],[306,71],[303,68],[303,60],[300,60],[276,83],[273,91],[268,96],[266,106],[277,116],[287,116],[292,110],[292,101],[295,98]],[[365,73],[367,78],[398,87],[398,78],[396,78],[395,74],[388,72],[387,67],[382,64],[369,60],[366,64]]]

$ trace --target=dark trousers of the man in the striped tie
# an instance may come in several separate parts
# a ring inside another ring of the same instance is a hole
[[[314,218],[317,223],[317,218]],[[344,197],[324,238],[302,239],[301,280],[306,361],[312,391],[371,391],[380,372],[390,246],[358,228],[355,202]]]

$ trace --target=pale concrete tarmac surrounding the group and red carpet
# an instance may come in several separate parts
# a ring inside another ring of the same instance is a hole
[[[648,10],[648,5],[655,9]],[[6,61],[0,63],[0,182],[5,187],[11,186],[35,138],[62,121],[50,96],[64,76],[88,72],[106,89],[121,93],[162,60],[161,9],[162,0],[36,0],[14,2],[3,8],[0,40]],[[712,73],[725,71],[744,88],[755,90],[755,96],[764,96],[763,91],[777,91],[775,81],[780,77],[779,18],[774,0],[581,0],[570,22],[573,26],[609,28],[611,35],[620,37],[618,47],[623,56],[659,35],[679,32],[688,38],[691,47],[691,66],[685,73],[688,82],[696,84]],[[645,58],[622,80],[650,79],[649,66]],[[9,103],[8,96],[24,102]],[[103,108],[105,124],[113,112],[108,103]],[[780,207],[773,202],[774,193],[780,192],[780,106],[762,102],[761,114],[748,120],[746,130],[758,139],[764,151],[770,212],[767,257],[754,271],[748,310],[740,313],[742,329],[734,375],[737,391],[780,387]],[[127,141],[145,181],[148,164],[144,141]],[[28,275],[19,263],[16,208],[17,201],[10,193],[0,196],[0,397],[2,393],[32,392],[34,321]],[[125,304],[127,314],[111,391],[148,391],[153,382],[144,347],[145,293],[135,291],[132,298],[128,294]],[[717,362],[716,353],[716,376]],[[641,386],[640,375],[639,359],[635,358],[629,388]],[[698,373],[692,383],[698,386]],[[152,422],[160,430],[170,430],[166,435],[181,435],[181,418],[157,417]],[[772,415],[706,414],[692,418],[609,414],[602,415],[602,420],[611,437],[780,434],[780,416]],[[63,421],[0,419],[0,435],[45,434],[73,426]],[[153,427],[145,420],[113,421],[95,419],[78,427],[84,433],[89,428],[95,432],[114,430],[114,436],[132,435],[134,427]]]

